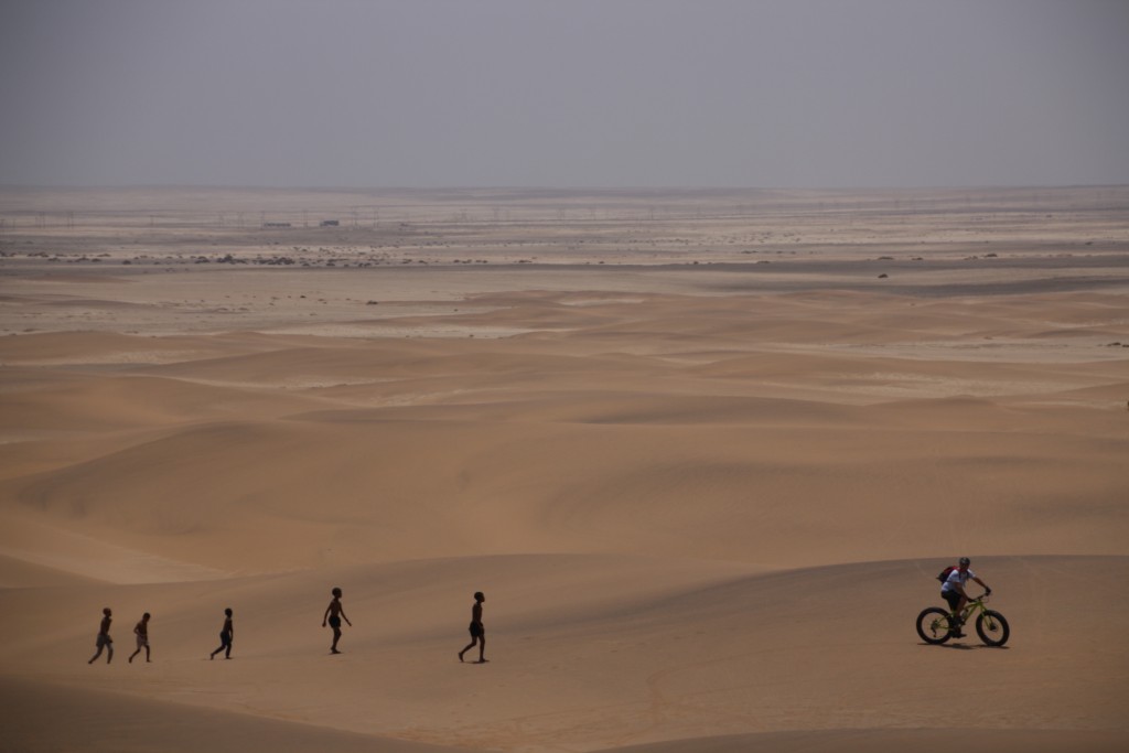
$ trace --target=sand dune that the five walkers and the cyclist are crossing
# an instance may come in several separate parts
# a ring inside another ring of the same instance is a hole
[[[16,677],[399,739],[548,750],[749,732],[933,729],[929,744],[951,732],[951,718],[1012,730],[1015,741],[1035,729],[1104,729],[1093,737],[1127,739],[1121,594],[1129,559],[978,558],[1013,625],[1005,649],[974,639],[919,643],[913,618],[937,601],[931,576],[940,562],[755,572],[671,559],[516,555],[219,586],[17,589],[0,602],[21,637],[5,648]],[[491,585],[492,660],[461,665],[460,607],[483,581]],[[325,656],[318,624],[330,583],[344,587],[355,623],[340,657]],[[115,664],[76,662],[90,649],[90,625],[77,616],[96,618],[111,598],[123,627],[142,608],[156,615],[158,663],[124,665],[130,643],[121,629]],[[56,602],[76,619],[34,630]],[[216,664],[207,653],[225,605],[236,608],[235,659]],[[938,703],[948,716],[938,717]]]

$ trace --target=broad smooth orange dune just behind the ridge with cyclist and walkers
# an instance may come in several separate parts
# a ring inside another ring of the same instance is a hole
[[[1120,546],[1123,513],[1110,496],[1129,446],[1111,409],[1059,422],[968,399],[491,400],[191,420],[0,489],[45,524],[96,526],[116,543],[221,569],[542,549],[798,566],[875,550]],[[1079,515],[1066,526],[1062,505]],[[1023,524],[1005,525],[1013,517]],[[425,537],[402,535],[423,525]],[[1058,527],[1049,543],[1048,526]],[[790,544],[797,534],[803,551]]]

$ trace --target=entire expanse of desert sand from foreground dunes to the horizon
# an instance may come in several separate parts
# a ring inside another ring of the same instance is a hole
[[[1129,747],[1129,189],[0,220],[2,751]]]

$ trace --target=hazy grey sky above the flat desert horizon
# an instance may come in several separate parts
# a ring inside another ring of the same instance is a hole
[[[5,0],[0,183],[1129,183],[1127,0]]]

